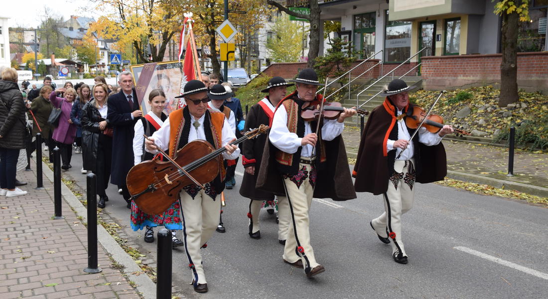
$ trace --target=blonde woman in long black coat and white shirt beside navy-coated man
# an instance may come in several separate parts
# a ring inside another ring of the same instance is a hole
[[[99,83],[93,87],[94,99],[85,103],[82,110],[82,159],[84,169],[97,176],[97,206],[104,208],[106,188],[109,187],[110,167],[112,162],[112,127],[106,119],[108,89],[106,84]]]

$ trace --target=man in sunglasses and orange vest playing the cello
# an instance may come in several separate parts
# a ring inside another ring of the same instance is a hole
[[[224,159],[235,159],[239,149],[236,145],[230,145],[236,139],[234,131],[224,114],[208,110],[209,98],[204,83],[198,80],[186,83],[182,97],[186,101],[185,108],[169,114],[162,127],[152,134],[152,138],[145,140],[146,150],[156,154],[156,146],[162,150],[169,149],[169,155],[175,159],[177,151],[187,143],[202,139],[216,149],[224,146]],[[204,156],[207,154],[204,153]],[[222,168],[219,175],[205,185],[205,189],[191,184],[180,192],[185,251],[196,292],[208,291],[200,248],[205,247],[219,223],[221,205],[218,199],[225,188],[224,176],[225,169]]]

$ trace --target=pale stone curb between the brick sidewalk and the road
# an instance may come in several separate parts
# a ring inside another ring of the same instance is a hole
[[[35,158],[32,158],[35,160]],[[42,161],[42,172],[50,182],[53,182],[53,171],[49,169],[48,165]],[[72,191],[68,189],[64,182],[61,184],[61,195],[72,207],[78,216],[81,216],[82,222],[88,221],[88,210],[84,207]],[[112,258],[122,266],[124,266],[123,272],[127,275],[130,281],[136,283],[136,289],[141,293],[145,299],[156,299],[156,284],[149,278],[149,275],[135,275],[134,272],[141,272],[141,268],[133,261],[133,258],[126,253],[122,247],[112,238],[112,236],[106,231],[102,225],[97,225],[97,240],[102,247],[108,252]]]

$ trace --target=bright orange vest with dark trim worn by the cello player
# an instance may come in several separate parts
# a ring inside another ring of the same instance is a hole
[[[171,130],[169,132],[169,155],[176,159],[177,150],[181,149],[187,143],[189,143],[189,132],[191,126],[191,118],[188,108],[177,109],[169,114],[169,125]],[[206,117],[204,119],[204,133],[206,134],[206,141],[214,146],[215,149],[219,149],[222,146],[222,126],[225,122],[225,115],[221,112],[212,110],[206,111]],[[209,129],[207,129],[209,127]],[[225,180],[226,170],[224,165],[219,166],[220,181]],[[215,178],[215,180],[217,180]]]

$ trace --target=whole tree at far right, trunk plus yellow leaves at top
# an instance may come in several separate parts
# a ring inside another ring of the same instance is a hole
[[[495,0],[492,0],[495,2]],[[502,16],[500,44],[503,60],[500,64],[499,107],[518,101],[517,94],[517,35],[518,22],[529,21],[529,0],[499,0],[495,14]]]

